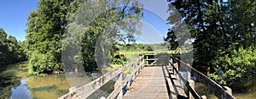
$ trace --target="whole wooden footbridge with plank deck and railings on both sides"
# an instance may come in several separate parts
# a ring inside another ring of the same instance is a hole
[[[129,69],[129,73],[124,71]],[[179,70],[183,69],[183,71]],[[186,74],[183,74],[186,73]],[[125,99],[205,99],[195,91],[195,82],[190,80],[193,74],[197,80],[219,99],[235,99],[229,87],[218,85],[206,75],[183,63],[169,54],[145,54],[108,74],[79,88],[71,88],[69,93],[59,99],[91,98],[91,95],[113,81],[113,90],[107,96],[97,98]],[[186,76],[184,76],[186,75]],[[110,87],[109,87],[110,88]]]

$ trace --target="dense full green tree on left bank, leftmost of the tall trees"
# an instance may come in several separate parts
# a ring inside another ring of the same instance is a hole
[[[63,70],[61,39],[67,25],[67,14],[71,10],[70,3],[67,0],[40,0],[38,8],[29,14],[26,53],[31,74]]]

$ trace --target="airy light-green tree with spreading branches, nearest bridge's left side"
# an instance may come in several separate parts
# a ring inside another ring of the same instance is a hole
[[[67,38],[64,40],[67,45],[63,52],[70,58],[66,62],[82,63],[85,70],[108,67],[118,50],[113,45],[120,39],[132,39],[133,35],[140,33],[139,19],[142,15],[142,5],[137,1],[87,1],[67,26]]]

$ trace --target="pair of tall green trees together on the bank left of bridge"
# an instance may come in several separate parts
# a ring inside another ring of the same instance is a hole
[[[107,3],[118,8],[106,9]],[[99,70],[97,65],[108,67],[106,57],[117,51],[109,45],[138,34],[135,27],[140,25],[141,6],[126,0],[40,0],[27,22],[29,73],[58,74],[64,66],[78,64],[86,71]],[[127,34],[121,34],[120,28]],[[66,70],[75,71],[72,67]]]

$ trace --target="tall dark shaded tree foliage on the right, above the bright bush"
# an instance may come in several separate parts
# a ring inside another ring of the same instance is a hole
[[[178,12],[171,13],[169,24],[177,24],[173,21],[175,14],[183,16],[195,38],[195,63],[211,65],[218,53],[224,52],[234,42],[241,47],[255,46],[252,43],[256,40],[253,21],[256,17],[252,13],[255,11],[255,2],[232,0],[230,3],[218,3],[217,0],[195,0],[175,1],[172,4]]]

